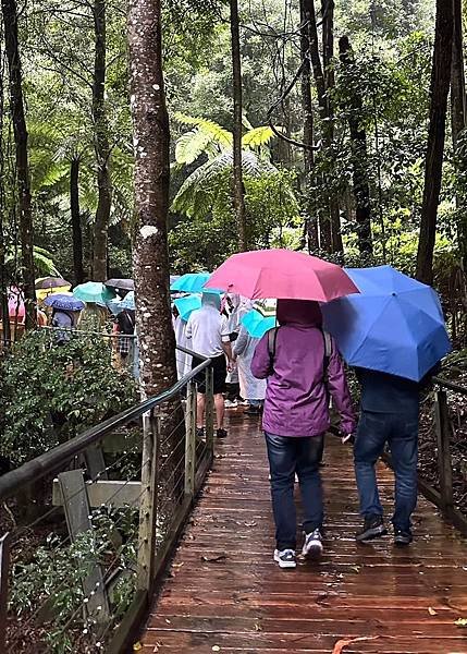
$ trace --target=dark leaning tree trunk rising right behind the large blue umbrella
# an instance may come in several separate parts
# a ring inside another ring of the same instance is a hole
[[[437,0],[433,68],[431,73],[430,125],[428,130],[425,187],[421,205],[417,279],[433,281],[433,253],[437,237],[438,205],[443,170],[447,94],[453,51],[453,2]]]

